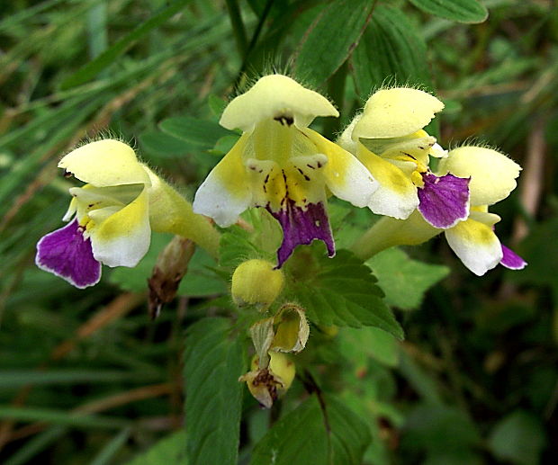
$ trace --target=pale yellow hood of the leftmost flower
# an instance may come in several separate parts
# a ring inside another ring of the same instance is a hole
[[[60,160],[58,168],[97,187],[149,182],[133,149],[113,139],[97,140],[72,150]]]

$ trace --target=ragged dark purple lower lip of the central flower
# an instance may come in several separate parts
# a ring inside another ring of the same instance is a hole
[[[306,208],[298,207],[294,201],[287,199],[279,211],[266,209],[279,221],[283,228],[283,242],[277,250],[277,268],[293,254],[294,247],[309,245],[319,239],[328,247],[328,255],[335,255],[335,244],[329,227],[328,214],[323,202],[309,203]]]

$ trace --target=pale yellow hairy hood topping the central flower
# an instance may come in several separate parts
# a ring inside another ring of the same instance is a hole
[[[283,119],[297,128],[308,126],[317,116],[339,116],[329,100],[306,89],[291,77],[269,75],[261,77],[245,94],[235,97],[225,108],[220,125],[250,132],[257,122]],[[289,122],[290,121],[290,122]]]

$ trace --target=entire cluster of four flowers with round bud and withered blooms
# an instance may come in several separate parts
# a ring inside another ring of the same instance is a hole
[[[329,100],[283,75],[264,76],[225,108],[220,124],[242,132],[206,177],[193,204],[179,195],[134,150],[98,140],[64,156],[58,167],[85,183],[71,187],[68,224],[42,237],[37,265],[78,288],[101,278],[101,265],[133,267],[147,253],[151,231],[178,237],[149,280],[153,314],[172,299],[193,243],[218,255],[221,228],[250,207],[265,209],[283,229],[275,263],[251,259],[231,278],[238,310],[251,320],[251,370],[239,380],[264,407],[289,389],[310,326],[305,310],[282,297],[282,266],[295,247],[322,241],[335,254],[330,195],[382,215],[354,244],[366,259],[390,246],[418,245],[444,233],[473,273],[526,262],[500,244],[489,207],[509,196],[521,167],[497,150],[445,150],[425,128],[444,104],[412,88],[382,89],[365,103],[337,142],[310,129],[317,117],[338,117]],[[285,301],[287,300],[287,301]]]

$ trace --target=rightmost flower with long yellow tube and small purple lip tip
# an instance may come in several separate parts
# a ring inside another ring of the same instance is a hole
[[[497,150],[464,146],[451,150],[440,160],[435,175],[453,173],[470,178],[470,212],[466,219],[451,228],[435,228],[415,210],[407,219],[385,217],[369,229],[353,247],[368,257],[391,246],[416,246],[444,232],[448,245],[463,264],[481,276],[498,264],[513,270],[527,265],[519,255],[500,243],[494,225],[500,217],[489,206],[509,196],[515,189],[521,167]]]

